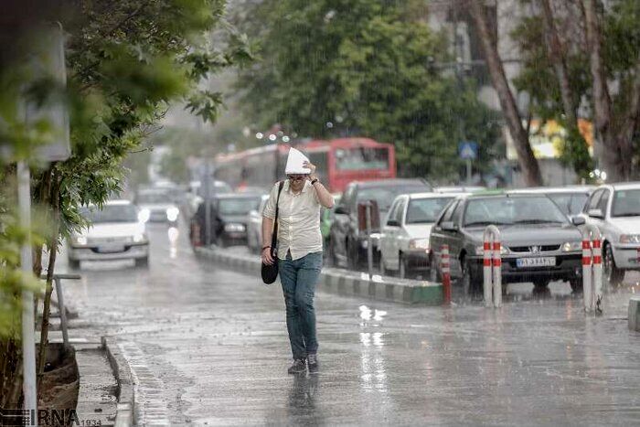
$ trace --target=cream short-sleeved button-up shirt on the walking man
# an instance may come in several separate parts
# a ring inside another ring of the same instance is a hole
[[[275,201],[278,198],[278,183],[272,187],[269,200],[264,205],[262,216],[275,218]],[[293,194],[289,180],[284,181],[278,204],[278,258],[284,260],[291,251],[293,260],[304,255],[322,251],[320,233],[320,200],[309,181],[302,191]]]

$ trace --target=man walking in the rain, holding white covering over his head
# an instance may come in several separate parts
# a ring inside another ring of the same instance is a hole
[[[293,353],[290,374],[317,372],[315,283],[322,268],[320,207],[333,208],[334,197],[315,176],[315,165],[302,153],[289,151],[287,176],[278,201],[279,183],[272,187],[262,211],[262,262],[272,264],[271,242],[278,203],[278,271],[283,283],[287,331]]]

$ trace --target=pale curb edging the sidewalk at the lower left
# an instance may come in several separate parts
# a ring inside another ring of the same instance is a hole
[[[115,345],[112,338],[101,337],[102,347],[107,352],[109,364],[113,369],[113,376],[118,382],[118,405],[116,407],[115,427],[129,427],[135,425],[133,408],[135,393],[133,391],[133,377],[131,368],[123,358],[123,354]]]

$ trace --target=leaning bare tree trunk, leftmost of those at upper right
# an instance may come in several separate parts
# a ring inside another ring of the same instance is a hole
[[[528,142],[528,133],[522,125],[520,112],[517,111],[516,100],[509,88],[507,75],[497,52],[496,42],[489,32],[484,2],[482,0],[468,0],[467,5],[469,5],[471,16],[474,18],[475,27],[485,53],[489,74],[491,74],[491,80],[500,100],[500,107],[507,120],[509,133],[516,148],[517,160],[522,169],[525,183],[528,187],[541,186],[542,176],[540,175],[538,159],[533,155],[533,150]]]

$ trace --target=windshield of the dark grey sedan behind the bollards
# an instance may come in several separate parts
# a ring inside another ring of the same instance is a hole
[[[566,224],[567,217],[548,197],[491,197],[469,200],[465,227],[489,224]]]

